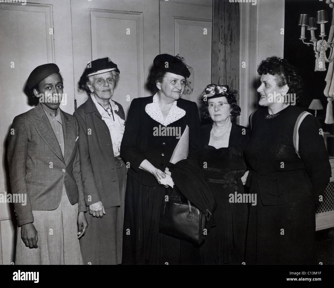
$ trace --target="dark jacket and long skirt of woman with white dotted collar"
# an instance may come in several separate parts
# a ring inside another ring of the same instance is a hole
[[[132,101],[121,144],[121,156],[130,162],[125,194],[123,264],[194,264],[200,263],[198,248],[185,241],[159,233],[161,201],[168,190],[150,173],[139,168],[147,159],[164,171],[179,139],[154,136],[154,127],[163,126],[145,111],[153,96]],[[197,105],[178,99],[177,107],[185,111],[168,127],[180,127],[181,135],[189,127],[189,156],[199,161],[201,155],[200,123]]]

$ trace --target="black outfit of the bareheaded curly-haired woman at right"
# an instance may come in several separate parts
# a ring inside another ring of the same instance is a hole
[[[288,106],[265,119],[268,109],[252,118],[245,149],[251,167],[246,264],[315,264],[315,207],[331,176],[331,166],[319,133],[320,123],[307,115],[299,128],[299,155],[294,127],[302,110]]]

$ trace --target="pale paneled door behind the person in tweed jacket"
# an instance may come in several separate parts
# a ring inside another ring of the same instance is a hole
[[[10,187],[6,139],[14,117],[34,107],[24,87],[36,66],[59,66],[67,94],[61,109],[74,111],[70,0],[33,2],[0,3],[0,265],[14,264],[16,234],[13,205],[4,202]]]

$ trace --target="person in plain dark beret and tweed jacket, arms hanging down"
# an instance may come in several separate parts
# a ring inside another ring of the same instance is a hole
[[[11,193],[26,197],[14,203],[15,264],[83,264],[78,238],[88,223],[78,124],[59,108],[63,81],[56,64],[36,67],[27,87],[39,103],[14,118],[8,135]]]

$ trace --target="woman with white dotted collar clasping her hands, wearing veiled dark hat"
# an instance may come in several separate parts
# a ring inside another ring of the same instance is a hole
[[[170,176],[170,159],[186,126],[188,158],[198,161],[201,154],[197,105],[181,99],[189,76],[181,60],[160,54],[153,61],[150,75],[155,94],[131,102],[121,144],[121,155],[130,162],[125,194],[124,264],[199,262],[199,254],[190,243],[159,233],[161,201],[168,194],[159,181],[166,174]],[[174,133],[166,133],[167,128]]]

